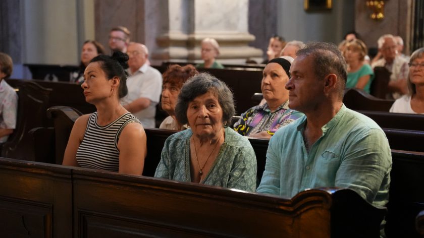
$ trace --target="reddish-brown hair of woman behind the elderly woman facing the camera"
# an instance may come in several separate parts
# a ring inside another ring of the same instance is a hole
[[[198,73],[193,65],[170,65],[163,75],[163,84],[170,83],[177,88],[181,88],[190,77]]]

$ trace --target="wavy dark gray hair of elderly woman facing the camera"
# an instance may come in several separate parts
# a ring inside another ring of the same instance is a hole
[[[228,86],[208,73],[200,73],[191,77],[184,83],[178,95],[177,105],[175,106],[175,116],[181,124],[187,124],[188,104],[194,98],[211,91],[214,93],[220,103],[223,111],[222,121],[224,125],[231,125],[231,117],[235,114],[233,93]]]

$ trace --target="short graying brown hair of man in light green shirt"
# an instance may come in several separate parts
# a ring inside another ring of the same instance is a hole
[[[337,45],[329,42],[308,42],[306,46],[299,49],[297,56],[312,56],[313,70],[315,76],[322,80],[329,74],[336,74],[338,79],[338,91],[343,98],[346,86],[347,71],[346,61],[337,48]]]

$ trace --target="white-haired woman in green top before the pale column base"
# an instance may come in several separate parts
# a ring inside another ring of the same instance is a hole
[[[196,68],[224,69],[224,66],[215,60],[220,54],[220,45],[214,38],[204,38],[201,47],[200,55],[204,63],[197,64]]]

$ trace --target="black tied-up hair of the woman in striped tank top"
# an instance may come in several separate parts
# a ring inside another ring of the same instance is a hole
[[[128,94],[127,76],[128,73],[128,54],[115,51],[112,56],[99,54],[91,59],[90,63],[99,62],[100,68],[103,70],[106,77],[110,80],[117,76],[120,80],[118,88],[119,98],[123,98]]]

